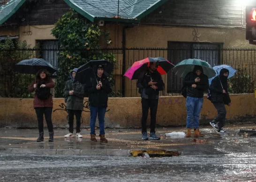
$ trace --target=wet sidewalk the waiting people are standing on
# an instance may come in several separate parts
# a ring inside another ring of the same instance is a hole
[[[90,130],[82,130],[83,139],[64,138],[68,129],[55,129],[54,142],[36,142],[37,129],[0,128],[0,152],[12,154],[68,154],[68,155],[113,155],[136,156],[144,150],[172,155],[226,154],[228,152],[256,153],[256,138],[243,138],[240,129],[252,129],[255,125],[227,126],[229,135],[219,135],[212,127],[203,127],[203,138],[170,138],[165,133],[185,132],[185,128],[157,128],[161,140],[142,141],[140,129],[106,129],[108,143],[90,141]],[[99,130],[96,130],[98,133]]]

